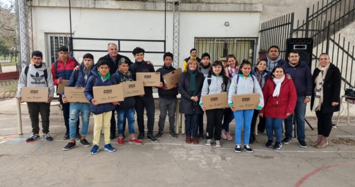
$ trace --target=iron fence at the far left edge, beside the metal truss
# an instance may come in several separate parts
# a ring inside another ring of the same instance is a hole
[[[18,71],[17,51],[0,50],[0,73]]]

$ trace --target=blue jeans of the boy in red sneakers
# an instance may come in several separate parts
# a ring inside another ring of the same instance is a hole
[[[118,134],[123,134],[123,124],[127,118],[128,121],[128,132],[134,134],[134,114],[135,109],[131,108],[128,110],[117,110],[117,129]]]

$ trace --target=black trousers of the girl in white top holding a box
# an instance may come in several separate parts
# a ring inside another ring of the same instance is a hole
[[[221,131],[222,131],[223,114],[224,114],[224,109],[206,110],[206,115],[207,115],[206,139],[212,139],[214,135],[214,140],[220,140]]]

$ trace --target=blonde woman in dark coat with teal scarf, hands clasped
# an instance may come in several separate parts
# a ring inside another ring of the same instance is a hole
[[[202,109],[199,106],[204,75],[199,72],[199,65],[196,59],[187,61],[184,72],[181,73],[178,81],[178,91],[181,94],[179,112],[185,114],[186,143],[198,144],[197,128],[199,114]]]

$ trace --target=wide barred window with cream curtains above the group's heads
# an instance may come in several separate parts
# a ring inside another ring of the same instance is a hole
[[[219,57],[226,57],[229,54],[236,56],[239,62],[244,59],[249,60],[252,64],[255,62],[257,38],[206,38],[195,37],[195,48],[199,56],[202,53],[209,53],[211,62]]]

